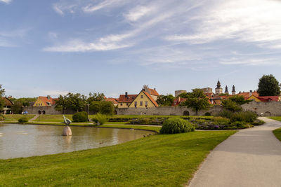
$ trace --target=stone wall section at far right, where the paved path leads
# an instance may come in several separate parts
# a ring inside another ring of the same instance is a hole
[[[281,116],[281,102],[249,102],[242,109],[254,111],[259,116]]]

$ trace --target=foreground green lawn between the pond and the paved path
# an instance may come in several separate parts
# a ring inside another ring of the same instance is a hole
[[[163,135],[103,148],[0,160],[1,186],[182,186],[235,131]]]

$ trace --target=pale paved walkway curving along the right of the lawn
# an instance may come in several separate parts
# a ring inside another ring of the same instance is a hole
[[[189,186],[281,186],[281,142],[273,130],[281,123],[240,130],[212,151]]]

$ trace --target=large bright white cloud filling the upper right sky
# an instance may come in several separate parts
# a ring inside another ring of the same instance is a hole
[[[209,4],[198,11],[194,18],[190,18],[188,24],[193,32],[170,35],[166,39],[189,43],[235,39],[263,43],[268,47],[272,42],[281,43],[280,1],[211,1]]]

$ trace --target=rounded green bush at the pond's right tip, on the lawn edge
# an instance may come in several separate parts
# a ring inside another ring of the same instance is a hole
[[[194,125],[181,118],[169,118],[164,121],[160,130],[161,134],[176,134],[181,132],[194,131]]]

